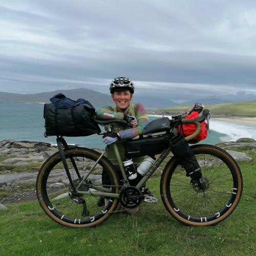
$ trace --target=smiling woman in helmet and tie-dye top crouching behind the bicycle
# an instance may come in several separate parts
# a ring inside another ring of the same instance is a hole
[[[142,133],[148,123],[148,117],[141,103],[131,103],[134,94],[134,83],[127,77],[119,76],[111,81],[110,93],[115,106],[104,106],[97,109],[96,116],[99,119],[123,119],[127,124],[115,123],[112,127],[113,133],[103,135],[103,142],[110,145],[105,156],[117,167],[119,167],[112,143],[116,142],[121,159],[124,159],[124,147],[122,139],[134,138]],[[139,164],[145,157],[133,158],[134,164]],[[132,182],[131,182],[132,183]],[[136,184],[131,184],[136,185]],[[157,201],[145,186],[142,188],[143,195],[147,195],[147,202]]]

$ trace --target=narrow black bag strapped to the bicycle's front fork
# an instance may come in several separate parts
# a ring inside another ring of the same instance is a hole
[[[186,170],[186,176],[194,180],[202,177],[200,165],[191,148],[181,135],[174,137],[170,141],[170,149],[174,156],[178,157],[182,167]]]

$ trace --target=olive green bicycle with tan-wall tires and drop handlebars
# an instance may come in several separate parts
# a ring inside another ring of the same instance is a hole
[[[189,141],[200,132],[200,123],[208,113],[205,111],[198,119],[184,119],[185,114],[175,116],[169,120],[169,131],[137,136],[133,140],[150,136],[158,138],[166,134],[172,138],[177,136],[179,123],[195,123],[197,130],[185,138]],[[109,132],[113,123],[123,122],[116,119],[95,121]],[[190,226],[215,225],[232,213],[242,196],[243,179],[237,162],[214,145],[190,146],[201,167],[201,186],[198,181],[186,176],[180,160],[170,156],[168,146],[134,187],[129,184],[115,143],[113,147],[121,177],[114,165],[104,157],[108,146],[100,154],[90,148],[69,147],[63,137],[57,138],[57,144],[59,152],[49,157],[39,170],[36,193],[46,214],[63,226],[94,227],[114,212],[122,211],[116,209],[119,202],[126,208],[138,207],[144,197],[140,188],[166,157],[170,159],[160,180],[161,199],[169,214],[181,223]],[[109,185],[102,184],[102,176]],[[98,206],[99,197],[108,198],[108,203]]]

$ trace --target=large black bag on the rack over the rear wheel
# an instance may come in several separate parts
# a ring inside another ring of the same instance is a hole
[[[94,117],[95,109],[90,104],[60,109],[58,104],[47,103],[44,107],[45,136],[79,137],[100,133]]]

